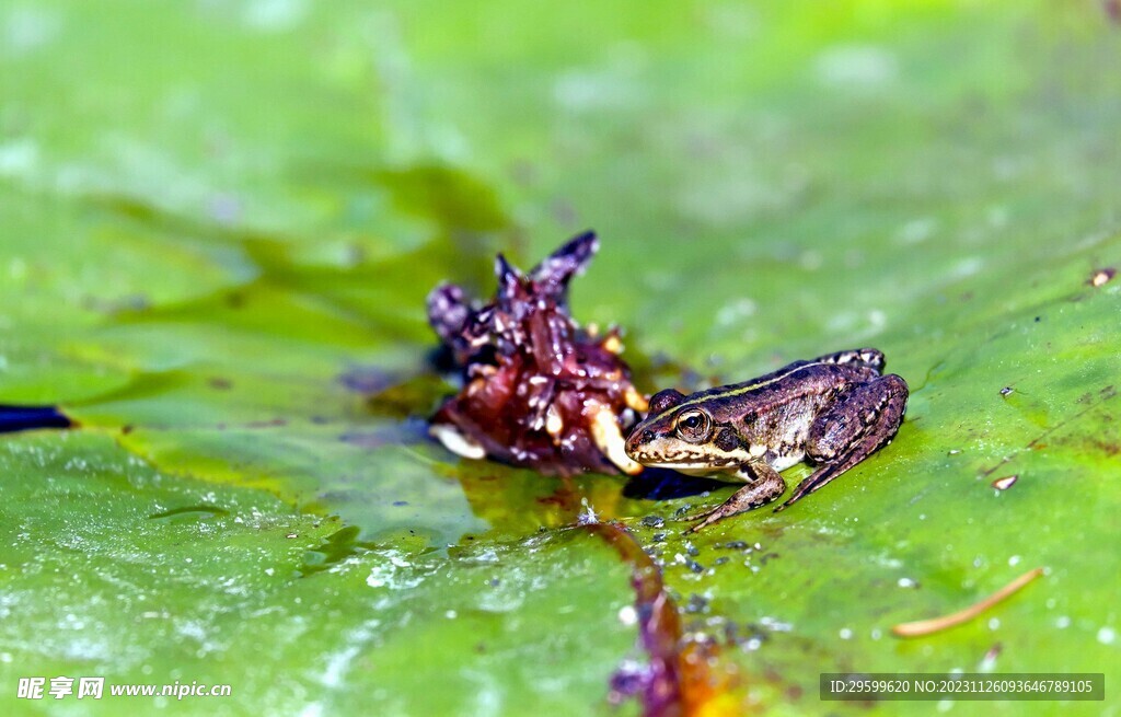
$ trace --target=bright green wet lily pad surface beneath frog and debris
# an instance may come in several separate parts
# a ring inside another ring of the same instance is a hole
[[[0,403],[76,426],[0,437],[0,711],[1117,715],[1119,12],[3,3]],[[432,441],[428,290],[589,227],[573,313],[641,390],[876,346],[896,440],[689,537],[734,485]],[[819,700],[847,671],[1106,699]]]

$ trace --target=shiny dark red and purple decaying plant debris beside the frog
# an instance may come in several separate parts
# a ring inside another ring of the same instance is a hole
[[[488,304],[454,285],[428,296],[428,320],[463,374],[432,418],[448,449],[548,474],[641,472],[623,436],[647,401],[619,334],[582,328],[568,310],[568,282],[597,248],[582,234],[526,274],[499,254]]]

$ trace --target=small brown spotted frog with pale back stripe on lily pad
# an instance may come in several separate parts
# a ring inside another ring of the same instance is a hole
[[[795,361],[742,383],[686,395],[666,389],[624,444],[631,459],[686,475],[747,483],[723,504],[695,515],[696,532],[766,505],[786,492],[781,471],[808,460],[814,472],[775,511],[814,493],[895,438],[909,390],[883,374],[883,353],[856,348]]]

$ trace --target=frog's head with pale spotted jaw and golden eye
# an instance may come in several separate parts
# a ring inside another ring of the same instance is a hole
[[[738,434],[713,420],[705,401],[667,389],[627,438],[627,455],[650,468],[691,475],[728,471],[747,460]]]

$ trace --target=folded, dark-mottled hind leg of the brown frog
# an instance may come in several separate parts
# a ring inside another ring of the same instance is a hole
[[[775,512],[817,491],[891,443],[904,420],[907,394],[907,382],[889,374],[856,387],[822,411],[810,425],[806,440],[806,457],[819,467]]]

